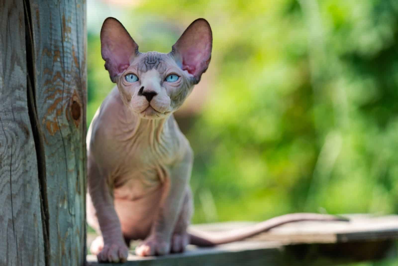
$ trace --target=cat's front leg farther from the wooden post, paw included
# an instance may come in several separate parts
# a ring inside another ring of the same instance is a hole
[[[138,256],[170,253],[170,242],[177,219],[181,213],[187,186],[189,186],[192,163],[193,153],[191,148],[189,148],[182,160],[170,168],[169,176],[164,182],[162,201],[152,224],[151,233],[135,249],[135,253]]]

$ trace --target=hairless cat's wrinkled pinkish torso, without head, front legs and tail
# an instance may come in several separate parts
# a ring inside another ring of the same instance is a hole
[[[170,168],[183,162],[184,156],[189,160],[183,163],[189,164],[188,167],[192,163],[191,148],[173,115],[149,120],[130,112],[114,88],[96,113],[87,136],[89,176],[98,175],[98,165],[102,173],[107,173],[105,175],[113,186],[113,202],[121,231],[128,240],[145,239],[149,235],[160,206],[162,185],[170,178]],[[104,124],[107,127],[103,127]],[[111,145],[107,146],[109,143]],[[89,178],[88,181],[90,192],[96,188],[98,179]],[[181,231],[185,231],[192,213],[189,186],[187,181],[184,182],[187,200],[179,208],[180,221],[177,223],[184,227]],[[100,232],[91,194],[87,197],[88,222]],[[116,217],[112,215],[109,221],[112,218]],[[187,238],[186,235],[184,237]],[[174,250],[180,251],[182,244],[176,243]],[[92,252],[98,253],[101,243],[96,248],[93,247]]]

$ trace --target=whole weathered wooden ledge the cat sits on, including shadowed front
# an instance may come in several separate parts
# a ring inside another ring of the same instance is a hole
[[[246,241],[195,248],[183,254],[140,258],[129,255],[123,266],[163,265],[316,265],[379,260],[386,258],[398,239],[398,215],[371,218],[349,215],[345,222],[299,222],[272,229]],[[212,233],[242,228],[251,223],[195,225],[194,230]],[[89,237],[88,239],[93,239]],[[90,244],[90,243],[88,243]],[[105,266],[88,255],[90,266]]]

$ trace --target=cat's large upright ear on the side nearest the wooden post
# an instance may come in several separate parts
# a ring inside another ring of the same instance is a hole
[[[130,66],[138,53],[137,43],[122,23],[115,18],[107,18],[101,28],[101,55],[113,82],[116,82],[118,74]]]

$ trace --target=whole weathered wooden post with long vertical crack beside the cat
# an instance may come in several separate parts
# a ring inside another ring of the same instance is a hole
[[[0,265],[84,265],[86,3],[0,1]]]

